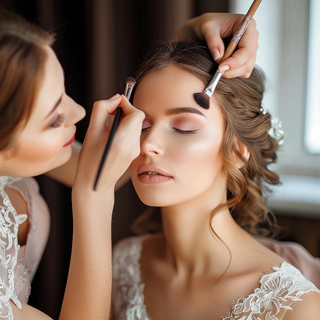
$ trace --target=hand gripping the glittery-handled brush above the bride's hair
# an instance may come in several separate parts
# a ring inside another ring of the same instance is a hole
[[[244,15],[234,13],[204,13],[189,19],[176,34],[179,41],[206,40],[214,59],[219,62],[224,54],[223,38],[232,36]],[[224,60],[219,71],[225,71],[224,78],[248,78],[253,71],[258,50],[259,32],[256,21],[251,19],[238,44],[238,50]]]

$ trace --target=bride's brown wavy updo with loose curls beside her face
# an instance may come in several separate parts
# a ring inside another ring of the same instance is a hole
[[[197,77],[204,87],[217,70],[206,44],[157,43],[134,75],[137,85],[151,71],[169,66],[181,68]],[[278,174],[268,168],[276,162],[278,143],[268,134],[270,114],[263,115],[260,111],[264,80],[263,73],[254,68],[248,79],[222,78],[213,95],[225,122],[220,154],[227,202],[215,208],[212,217],[227,207],[234,219],[252,234],[270,233],[272,223],[268,228],[261,228],[261,224],[270,222],[263,192],[268,191],[266,184],[279,184]],[[243,156],[241,145],[250,151],[248,159]]]

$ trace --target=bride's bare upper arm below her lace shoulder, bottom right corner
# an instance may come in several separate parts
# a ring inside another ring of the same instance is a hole
[[[319,320],[320,291],[309,291],[301,295],[300,299],[291,305],[292,310],[287,310],[282,320]]]

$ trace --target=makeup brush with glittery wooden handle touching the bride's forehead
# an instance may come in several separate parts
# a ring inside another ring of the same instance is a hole
[[[234,50],[236,49],[244,31],[246,30],[251,18],[253,17],[254,13],[256,12],[258,6],[260,5],[261,0],[254,0],[253,4],[251,5],[250,9],[248,10],[247,14],[243,18],[241,25],[238,27],[236,33],[231,39],[231,42],[229,43],[228,47],[226,48],[224,55],[220,61],[224,61],[225,59],[229,58]],[[199,106],[201,106],[204,109],[209,109],[210,106],[210,98],[213,95],[213,92],[221,79],[224,72],[219,72],[218,70],[213,75],[212,79],[210,80],[208,86],[204,89],[203,92],[196,93],[193,95],[195,101]]]

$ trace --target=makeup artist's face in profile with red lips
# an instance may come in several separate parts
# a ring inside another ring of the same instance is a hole
[[[0,153],[1,174],[34,176],[68,161],[75,124],[85,110],[65,93],[62,67],[50,47],[44,78],[26,126],[17,134],[14,145]]]

